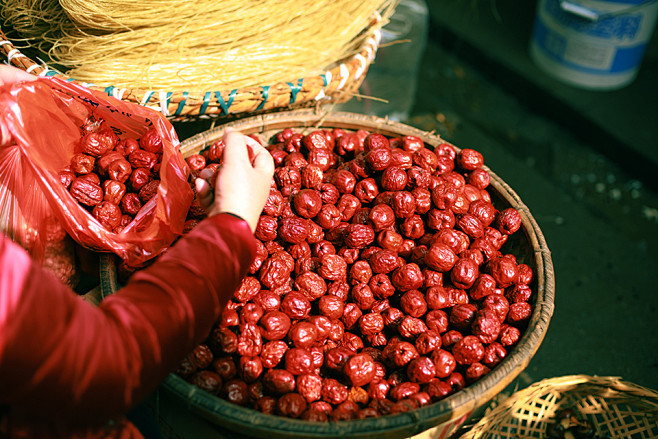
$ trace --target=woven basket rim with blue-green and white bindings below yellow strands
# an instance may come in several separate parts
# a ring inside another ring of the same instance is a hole
[[[0,28],[0,59],[38,76],[61,79],[98,90],[115,98],[143,105],[164,114],[175,122],[205,118],[230,119],[268,112],[315,107],[347,102],[357,93],[375,59],[385,20],[375,13],[369,26],[359,36],[359,46],[352,55],[336,60],[319,75],[290,78],[276,84],[227,88],[204,92],[154,91],[135,88],[100,87],[71,78],[35,53],[21,51],[8,37],[10,30]]]

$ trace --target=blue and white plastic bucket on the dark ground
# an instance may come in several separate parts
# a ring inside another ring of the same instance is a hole
[[[657,15],[658,0],[540,0],[530,53],[567,84],[618,89],[637,76]]]

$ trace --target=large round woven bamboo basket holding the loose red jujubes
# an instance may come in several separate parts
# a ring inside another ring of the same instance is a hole
[[[303,109],[254,116],[218,126],[182,142],[183,155],[189,156],[204,150],[221,138],[227,127],[233,127],[245,134],[256,135],[265,143],[273,134],[284,128],[293,128],[301,133],[317,128],[364,129],[387,136],[415,135],[432,146],[444,142],[435,134],[387,119],[353,113]],[[544,339],[554,308],[553,263],[544,236],[519,196],[490,169],[485,169],[491,175],[488,190],[494,205],[498,209],[516,208],[523,220],[522,231],[510,236],[504,250],[514,254],[519,263],[523,262],[532,267],[536,275],[531,285],[534,291],[532,298],[534,311],[528,328],[507,357],[483,378],[441,401],[411,412],[328,423],[266,415],[237,406],[200,390],[175,374],[169,375],[162,389],[180,400],[194,414],[224,429],[227,437],[233,435],[270,439],[449,437],[468,419],[469,415],[505,389],[526,368]],[[104,288],[114,291],[118,287],[116,272],[113,272],[115,269],[109,265],[105,270]]]

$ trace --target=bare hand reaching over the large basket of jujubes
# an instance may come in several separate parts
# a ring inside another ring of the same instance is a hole
[[[227,129],[223,140],[215,193],[204,178],[197,178],[196,190],[202,204],[208,206],[208,216],[232,213],[247,221],[253,232],[269,195],[274,160],[267,149],[238,131]]]

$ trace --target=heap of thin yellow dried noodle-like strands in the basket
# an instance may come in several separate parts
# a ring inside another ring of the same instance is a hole
[[[397,0],[5,0],[28,47],[77,81],[203,91],[316,75]]]

